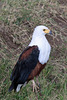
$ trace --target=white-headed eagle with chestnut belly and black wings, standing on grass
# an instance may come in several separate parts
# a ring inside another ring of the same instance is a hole
[[[20,54],[12,70],[9,92],[12,90],[19,92],[21,87],[29,81],[33,83],[33,92],[39,88],[34,81],[34,77],[37,77],[45,68],[51,52],[46,34],[52,34],[48,27],[44,25],[35,27],[31,42]]]

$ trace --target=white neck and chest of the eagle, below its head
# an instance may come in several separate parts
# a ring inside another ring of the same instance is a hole
[[[37,45],[40,50],[40,54],[38,58],[39,62],[41,64],[47,63],[51,51],[51,46],[48,43],[46,37],[40,37],[40,38],[37,37],[36,39],[32,40],[29,46],[33,46],[33,45]]]

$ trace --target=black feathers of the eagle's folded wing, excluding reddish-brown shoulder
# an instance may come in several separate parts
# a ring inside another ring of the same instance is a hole
[[[29,50],[29,48],[25,49],[25,51],[27,50]],[[25,51],[23,51],[23,53]],[[20,55],[19,60],[15,65],[10,77],[13,84],[13,85],[11,84],[11,86],[13,86],[14,90],[16,90],[18,84],[24,84],[27,81],[28,76],[38,63],[38,57],[39,57],[38,47],[34,48],[27,58],[20,60],[23,53]]]

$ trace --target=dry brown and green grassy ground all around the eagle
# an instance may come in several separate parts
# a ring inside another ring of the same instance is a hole
[[[53,33],[46,36],[52,50],[40,90],[33,93],[29,82],[9,93],[12,69],[37,25]],[[67,100],[67,0],[0,0],[0,100]]]

